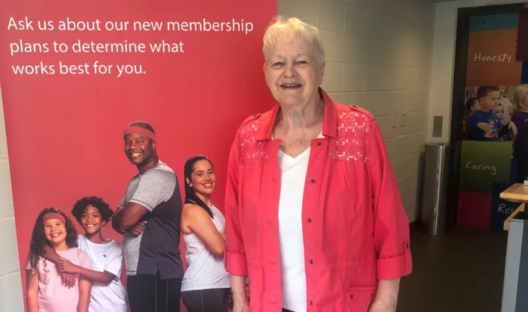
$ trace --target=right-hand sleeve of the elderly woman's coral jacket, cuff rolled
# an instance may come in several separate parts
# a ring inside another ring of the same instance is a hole
[[[369,172],[373,196],[374,244],[378,279],[397,279],[412,272],[409,219],[403,209],[391,159],[380,127],[372,120]]]

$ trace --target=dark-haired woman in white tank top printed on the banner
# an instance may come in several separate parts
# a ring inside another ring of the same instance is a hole
[[[224,268],[225,218],[212,203],[216,177],[211,160],[193,156],[184,167],[182,224],[187,270],[182,300],[188,312],[228,312],[229,273]]]

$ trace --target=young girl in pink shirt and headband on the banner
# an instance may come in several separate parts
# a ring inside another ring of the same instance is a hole
[[[49,245],[60,257],[92,269],[91,259],[77,244],[77,230],[64,212],[55,208],[40,212],[33,227],[26,266],[28,312],[88,311],[91,282],[77,275],[73,287],[64,287],[55,264],[44,259],[44,246]]]

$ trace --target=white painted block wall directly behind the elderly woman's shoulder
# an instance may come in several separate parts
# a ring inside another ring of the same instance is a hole
[[[428,130],[434,3],[279,0],[279,15],[321,30],[327,55],[323,87],[336,102],[357,104],[376,116],[414,221],[419,153]]]

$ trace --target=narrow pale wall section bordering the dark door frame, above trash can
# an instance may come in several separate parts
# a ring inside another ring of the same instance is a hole
[[[449,141],[458,9],[525,2],[515,0],[465,0],[437,3],[436,15],[434,17],[433,75],[428,122],[428,142],[447,143]],[[433,116],[443,116],[441,138],[432,137]]]

